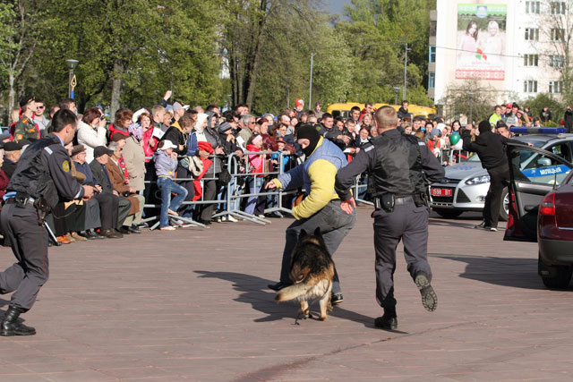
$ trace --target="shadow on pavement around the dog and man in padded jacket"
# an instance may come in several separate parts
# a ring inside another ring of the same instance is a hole
[[[257,318],[255,322],[268,322],[276,321],[282,318],[295,318],[296,309],[292,303],[278,305],[275,303],[275,293],[267,289],[267,284],[272,284],[274,281],[267,280],[258,276],[245,275],[235,272],[210,272],[205,270],[196,270],[196,274],[201,278],[218,278],[220,280],[227,280],[233,283],[235,291],[240,292],[235,301],[249,303],[252,308],[265,313],[267,317]],[[281,309],[279,307],[284,307]],[[318,310],[318,302],[312,303],[312,308]],[[278,311],[279,310],[279,311]],[[374,327],[374,318],[364,316],[352,310],[346,310],[337,305],[329,316],[336,318],[348,319],[350,321],[359,322],[364,327]]]

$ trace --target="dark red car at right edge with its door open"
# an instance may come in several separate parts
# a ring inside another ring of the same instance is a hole
[[[508,146],[509,221],[504,240],[538,242],[538,273],[550,288],[566,288],[573,274],[573,165],[571,149]],[[531,158],[523,166],[524,158]]]

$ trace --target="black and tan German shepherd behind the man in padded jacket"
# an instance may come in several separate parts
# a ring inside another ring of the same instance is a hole
[[[321,305],[321,320],[327,319],[327,309],[331,310],[330,293],[332,277],[334,276],[334,261],[326,248],[318,227],[314,234],[301,231],[290,268],[290,279],[294,284],[286,286],[277,292],[275,301],[298,300],[301,303],[298,318],[312,317],[308,309],[308,301],[319,299]]]

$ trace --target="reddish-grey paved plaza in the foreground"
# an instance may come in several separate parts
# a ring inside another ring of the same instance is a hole
[[[423,310],[400,245],[398,331],[382,331],[371,209],[358,212],[334,258],[345,301],[326,322],[295,325],[295,304],[266,287],[290,218],[52,248],[22,315],[38,335],[0,337],[0,381],[573,379],[573,288],[543,287],[535,243],[472,229],[477,215],[432,217],[438,310]]]

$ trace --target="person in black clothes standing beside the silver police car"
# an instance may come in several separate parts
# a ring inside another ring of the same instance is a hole
[[[490,189],[485,195],[483,206],[483,222],[475,225],[475,228],[497,231],[501,194],[503,188],[509,183],[509,163],[503,146],[509,138],[492,132],[492,125],[488,121],[480,122],[478,129],[480,135],[475,138],[475,142],[471,141],[470,132],[462,133],[463,149],[477,153],[483,168],[490,174]]]

